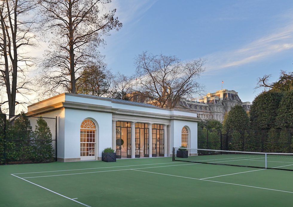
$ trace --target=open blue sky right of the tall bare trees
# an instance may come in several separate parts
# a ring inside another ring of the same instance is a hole
[[[293,1],[112,0],[123,27],[100,48],[112,72],[135,73],[134,58],[144,50],[203,58],[198,80],[205,92],[235,90],[252,102],[262,91],[257,78],[292,71]]]

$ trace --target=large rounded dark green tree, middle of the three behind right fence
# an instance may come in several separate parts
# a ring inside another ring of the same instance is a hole
[[[254,99],[250,107],[252,129],[275,128],[277,111],[283,95],[284,93],[279,91],[264,91]]]

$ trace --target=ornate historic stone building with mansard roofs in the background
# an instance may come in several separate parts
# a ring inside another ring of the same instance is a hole
[[[222,89],[215,93],[207,93],[198,101],[181,99],[176,108],[195,111],[200,119],[215,119],[223,122],[225,113],[237,104],[242,105],[245,111],[250,109],[250,102],[242,102],[236,91]]]

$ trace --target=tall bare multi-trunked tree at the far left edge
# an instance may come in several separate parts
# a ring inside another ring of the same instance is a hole
[[[33,33],[35,18],[33,0],[0,1],[0,85],[7,92],[10,117],[15,113],[16,93],[25,96],[30,91],[30,81],[26,77],[34,64],[27,53],[29,47],[36,46]]]

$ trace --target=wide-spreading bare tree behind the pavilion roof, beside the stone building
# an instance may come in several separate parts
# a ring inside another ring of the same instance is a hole
[[[202,91],[196,82],[205,70],[205,60],[181,62],[176,56],[143,52],[135,60],[141,96],[161,108],[174,108],[182,97]]]

